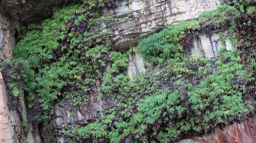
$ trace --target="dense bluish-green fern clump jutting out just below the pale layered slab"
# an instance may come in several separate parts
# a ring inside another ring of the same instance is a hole
[[[158,34],[153,34],[143,39],[138,45],[139,52],[146,61],[160,64],[163,64],[168,58],[182,58],[183,47],[179,42],[185,31],[200,30],[200,28],[200,22],[197,20],[182,21]]]

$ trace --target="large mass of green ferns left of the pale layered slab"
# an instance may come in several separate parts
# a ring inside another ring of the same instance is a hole
[[[111,50],[104,46],[111,45],[110,32],[103,29],[100,22],[105,18],[95,9],[104,3],[85,0],[55,7],[52,19],[19,28],[26,35],[19,36],[14,58],[28,61],[35,70],[35,92],[46,115],[54,112],[52,104],[58,95],[75,98],[75,106],[82,104],[81,98],[93,92],[102,78],[108,60],[105,55]],[[82,92],[74,93],[78,90]]]

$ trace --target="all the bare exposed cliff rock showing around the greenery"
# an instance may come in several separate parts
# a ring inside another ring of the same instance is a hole
[[[50,13],[44,8],[63,3],[63,0],[33,2],[33,1],[1,1],[0,4],[0,60],[12,59],[12,48],[16,45],[15,34],[18,21],[33,21],[38,14],[41,17],[49,17]],[[215,10],[220,5],[218,0],[134,0],[131,2],[116,2],[114,8],[105,8],[105,13],[122,17],[123,14],[132,13],[136,19],[128,20],[115,25],[105,24],[111,27],[111,39],[115,50],[125,50],[137,45],[138,40],[154,34],[166,26],[175,25],[181,20],[198,19],[204,11]],[[213,58],[218,56],[217,51],[221,47],[218,41],[220,34],[227,31],[214,31],[212,34],[199,34],[199,38],[193,39],[193,44],[187,52],[196,56]],[[227,50],[232,49],[231,41],[224,43]],[[137,73],[145,72],[145,65],[140,55],[129,55],[127,73],[130,79],[134,79]],[[110,65],[106,66],[108,71]],[[1,76],[0,76],[1,77]],[[100,81],[99,81],[100,82]],[[95,91],[99,91],[100,83],[97,83]],[[29,132],[26,139],[22,137],[23,128],[17,111],[10,111],[7,107],[8,95],[3,79],[0,79],[0,141],[3,143],[47,143],[47,137],[39,132],[38,127],[29,123]],[[87,124],[95,121],[99,111],[113,106],[115,102],[111,98],[99,98],[99,93],[90,94],[87,104],[73,108],[73,102],[67,101],[64,105],[55,104],[52,131],[58,143],[64,143],[67,138],[64,132],[74,129],[77,124]],[[24,95],[21,95],[19,106],[23,115],[27,118],[27,105]],[[74,110],[76,112],[74,112]],[[256,117],[248,121],[215,129],[214,133],[182,140],[180,143],[253,143],[256,142]],[[26,140],[26,141],[25,141]]]

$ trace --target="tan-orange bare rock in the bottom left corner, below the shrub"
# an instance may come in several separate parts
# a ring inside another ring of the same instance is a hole
[[[18,104],[22,107],[23,115],[27,118],[27,107],[24,101],[24,94],[22,93]],[[31,123],[28,123],[29,132],[27,137],[24,137],[19,114],[17,110],[9,110],[7,103],[6,85],[3,82],[2,73],[0,73],[0,143],[43,143],[38,129],[34,128]]]

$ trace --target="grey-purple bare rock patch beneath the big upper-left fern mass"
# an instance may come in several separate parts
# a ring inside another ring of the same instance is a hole
[[[99,85],[97,85],[99,87]],[[95,89],[98,91],[98,89]],[[76,106],[72,99],[65,101],[62,105],[54,106],[53,119],[55,127],[53,132],[57,143],[65,143],[64,132],[73,129],[76,124],[87,124],[95,121],[102,109],[113,106],[114,101],[110,97],[99,98],[99,93],[95,92],[89,95],[87,102],[81,106]]]

